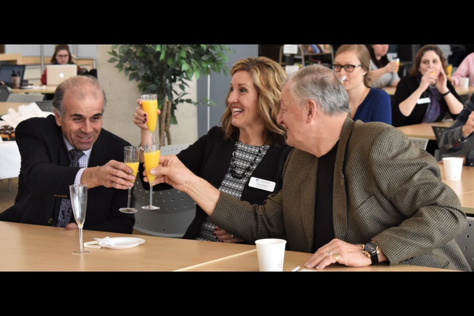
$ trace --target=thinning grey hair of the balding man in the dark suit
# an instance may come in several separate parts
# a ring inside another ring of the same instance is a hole
[[[69,91],[75,98],[82,100],[88,95],[99,99],[100,94],[104,97],[104,104],[102,105],[102,113],[105,111],[107,105],[107,98],[105,97],[104,89],[99,84],[99,81],[91,76],[75,76],[64,80],[54,92],[53,107],[59,115],[64,116],[64,94]]]

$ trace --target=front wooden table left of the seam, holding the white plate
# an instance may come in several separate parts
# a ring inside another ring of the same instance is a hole
[[[87,219],[86,219],[87,223]],[[0,222],[0,271],[173,271],[254,249],[255,246],[154,236],[83,231],[84,242],[104,237],[139,237],[130,249],[79,250],[79,231]]]

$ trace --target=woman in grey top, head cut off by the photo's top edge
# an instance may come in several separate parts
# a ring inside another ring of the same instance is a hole
[[[370,53],[369,81],[374,88],[396,87],[400,77],[396,73],[398,65],[396,61],[387,55],[388,44],[367,45]]]

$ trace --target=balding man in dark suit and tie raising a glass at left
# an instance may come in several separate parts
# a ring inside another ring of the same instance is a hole
[[[102,129],[104,91],[96,79],[73,77],[57,87],[53,106],[54,116],[17,126],[18,195],[0,220],[76,229],[67,199],[80,183],[88,188],[84,229],[131,233],[134,216],[118,211],[133,186],[132,169],[119,162],[130,144]]]

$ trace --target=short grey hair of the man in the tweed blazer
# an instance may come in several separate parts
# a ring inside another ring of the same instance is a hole
[[[283,84],[291,82],[290,91],[299,106],[314,100],[323,113],[337,116],[350,112],[349,95],[334,72],[321,65],[306,66],[288,75]]]

